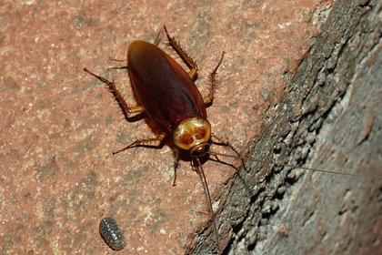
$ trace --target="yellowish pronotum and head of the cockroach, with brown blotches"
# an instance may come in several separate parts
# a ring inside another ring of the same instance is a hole
[[[188,150],[191,157],[202,157],[209,151],[211,124],[204,117],[182,120],[173,131],[173,141],[178,148]]]

